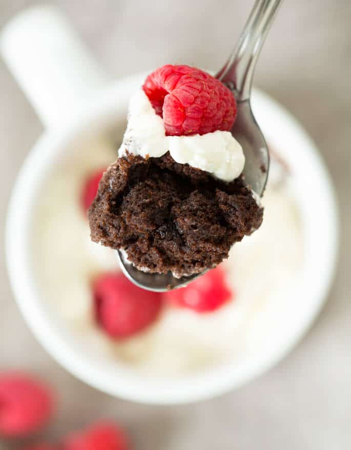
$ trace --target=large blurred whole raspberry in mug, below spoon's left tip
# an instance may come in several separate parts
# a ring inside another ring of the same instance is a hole
[[[98,323],[113,338],[126,338],[147,328],[161,310],[162,296],[144,291],[122,274],[103,274],[93,283]]]

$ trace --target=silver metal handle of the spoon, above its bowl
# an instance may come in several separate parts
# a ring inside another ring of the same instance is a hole
[[[237,101],[250,98],[257,58],[280,3],[281,0],[256,0],[235,50],[216,75],[235,91]]]

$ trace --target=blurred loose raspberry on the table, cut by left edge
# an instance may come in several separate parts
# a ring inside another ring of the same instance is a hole
[[[0,435],[36,431],[50,417],[53,399],[47,387],[29,375],[0,374]]]

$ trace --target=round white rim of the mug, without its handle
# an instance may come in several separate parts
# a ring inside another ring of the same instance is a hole
[[[208,370],[205,374],[181,377],[178,383],[172,384],[172,389],[168,383],[157,381],[153,384],[144,374],[140,377],[130,377],[130,374],[123,374],[121,371],[123,378],[118,378],[116,374],[112,377],[111,373],[102,373],[102,367],[98,367],[98,370],[91,367],[91,358],[84,355],[77,358],[73,347],[68,345],[69,339],[64,342],[64,339],[59,337],[57,324],[50,319],[43,302],[36,294],[34,277],[31,274],[29,249],[31,202],[34,201],[36,188],[43,179],[37,176],[38,167],[50,167],[50,158],[60,151],[62,153],[63,149],[67,148],[67,142],[72,141],[74,136],[86,129],[93,120],[102,120],[104,114],[111,111],[113,100],[118,98],[119,102],[127,102],[130,93],[140,86],[144,76],[145,73],[141,73],[116,80],[94,96],[90,102],[91,108],[77,114],[65,129],[50,130],[38,139],[17,175],[10,197],[5,229],[6,263],[14,297],[29,328],[48,353],[71,374],[100,391],[126,400],[149,404],[189,403],[220,395],[253,380],[271,369],[306,333],[327,298],[336,270],[339,240],[337,204],[331,179],[312,140],[290,113],[268,95],[255,90],[256,101],[265,105],[267,114],[280,117],[280,121],[285,122],[304,148],[308,149],[305,155],[306,163],[313,164],[318,172],[317,178],[321,195],[324,196],[325,211],[329,212],[325,214],[323,225],[331,237],[325,243],[322,259],[323,276],[319,284],[312,287],[313,301],[301,318],[299,328],[293,330],[290,337],[280,342],[275,349],[271,349],[256,361],[251,361],[247,366],[249,369],[235,367],[234,370],[234,365],[224,364]],[[106,371],[108,370],[107,366]]]

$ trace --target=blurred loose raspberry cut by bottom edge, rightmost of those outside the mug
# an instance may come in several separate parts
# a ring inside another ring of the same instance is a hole
[[[63,450],[128,450],[125,433],[117,425],[101,422],[69,436]]]

